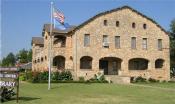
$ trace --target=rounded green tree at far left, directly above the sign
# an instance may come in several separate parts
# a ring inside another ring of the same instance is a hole
[[[11,66],[15,66],[15,63],[16,63],[15,55],[12,52],[10,52],[7,55],[7,57],[2,59],[1,66],[11,67]]]

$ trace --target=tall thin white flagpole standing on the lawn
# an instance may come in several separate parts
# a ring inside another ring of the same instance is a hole
[[[52,53],[52,50],[51,50],[51,46],[52,46],[52,19],[53,19],[53,17],[52,17],[52,15],[53,15],[53,2],[51,2],[51,14],[50,14],[50,22],[51,22],[51,24],[50,24],[50,42],[49,42],[49,50],[48,50],[48,56],[49,56],[49,78],[48,78],[48,90],[50,90],[50,77],[51,77],[51,53]]]

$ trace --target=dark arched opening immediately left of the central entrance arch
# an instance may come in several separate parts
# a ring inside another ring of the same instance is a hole
[[[92,57],[83,56],[80,59],[80,69],[92,69]]]

